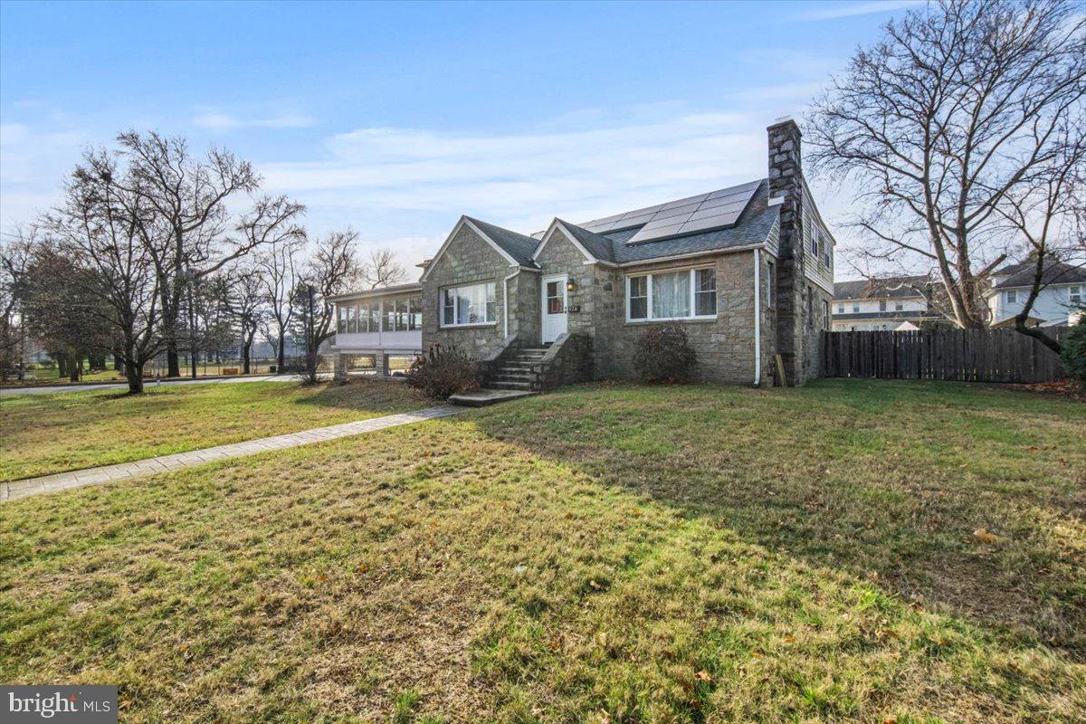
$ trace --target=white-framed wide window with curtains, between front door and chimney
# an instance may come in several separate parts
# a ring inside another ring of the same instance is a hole
[[[717,272],[711,267],[627,277],[626,284],[631,321],[717,316]]]

